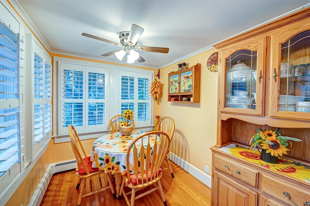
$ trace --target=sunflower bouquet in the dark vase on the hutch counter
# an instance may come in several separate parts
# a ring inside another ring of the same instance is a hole
[[[287,154],[286,151],[289,151],[287,148],[290,144],[292,147],[292,141],[300,142],[300,139],[288,136],[281,136],[279,133],[280,128],[277,128],[275,131],[258,129],[256,134],[252,135],[250,139],[251,148],[255,150],[257,145],[261,145],[262,149],[266,149],[266,153],[270,153],[271,156],[278,157],[282,154]]]

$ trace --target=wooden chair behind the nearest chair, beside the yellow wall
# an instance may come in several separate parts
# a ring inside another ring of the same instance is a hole
[[[157,131],[166,132],[169,135],[170,141],[172,141],[172,137],[174,134],[174,127],[175,126],[174,126],[173,118],[163,117],[158,122]],[[170,154],[170,151],[168,150],[165,160],[167,161],[167,164],[169,166],[171,177],[174,178],[172,167],[171,167],[170,160],[168,157],[169,154]],[[168,168],[165,168],[165,169],[168,169]]]

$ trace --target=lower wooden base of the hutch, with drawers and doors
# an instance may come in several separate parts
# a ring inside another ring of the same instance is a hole
[[[303,206],[310,203],[309,183],[284,177],[217,147],[211,149],[212,206]]]

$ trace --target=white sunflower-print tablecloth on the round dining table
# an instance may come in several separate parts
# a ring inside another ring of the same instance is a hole
[[[93,142],[93,158],[91,159],[91,161],[93,161],[92,167],[104,170],[105,173],[111,172],[112,175],[115,173],[121,173],[122,175],[126,174],[126,152],[132,141],[142,133],[143,131],[134,131],[130,135],[122,135],[121,132],[115,132],[113,134],[103,135],[96,139]],[[154,135],[151,142],[153,145],[155,139]],[[156,142],[158,143],[159,141],[160,139],[157,138]],[[134,171],[134,168],[131,168],[131,171]]]

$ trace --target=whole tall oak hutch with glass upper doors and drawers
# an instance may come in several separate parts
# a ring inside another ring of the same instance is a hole
[[[220,65],[212,205],[310,206],[310,8],[214,47]],[[281,128],[302,142],[288,146],[281,163],[260,163],[246,155],[259,128]]]

